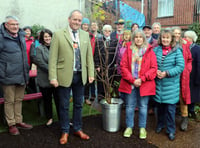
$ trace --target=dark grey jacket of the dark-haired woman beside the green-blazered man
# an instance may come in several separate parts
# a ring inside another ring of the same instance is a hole
[[[48,79],[49,49],[40,45],[36,48],[35,64],[37,65],[37,78],[40,87],[51,87]]]

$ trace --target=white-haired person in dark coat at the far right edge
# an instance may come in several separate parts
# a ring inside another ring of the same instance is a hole
[[[188,106],[189,117],[196,119],[194,112],[195,103],[200,102],[200,46],[195,42],[197,35],[194,31],[189,30],[184,33],[184,37],[191,42],[190,50],[192,53],[192,71],[190,74],[190,91],[191,91],[191,104]]]

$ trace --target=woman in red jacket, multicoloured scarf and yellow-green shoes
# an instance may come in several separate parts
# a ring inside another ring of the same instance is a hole
[[[147,105],[150,95],[155,95],[157,61],[145,34],[138,29],[133,33],[132,42],[127,45],[120,63],[122,79],[119,91],[125,95],[126,130],[124,137],[130,137],[134,127],[134,110],[139,108],[140,139],[145,139]]]

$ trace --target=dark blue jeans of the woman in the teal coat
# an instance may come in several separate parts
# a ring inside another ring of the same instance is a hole
[[[157,128],[167,127],[167,133],[175,133],[176,104],[157,103]]]

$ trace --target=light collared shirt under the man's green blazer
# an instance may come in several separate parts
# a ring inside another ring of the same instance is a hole
[[[69,34],[71,36],[71,39],[72,39],[72,45],[74,44],[74,42],[78,43],[78,46],[79,46],[79,49],[80,49],[80,40],[79,40],[79,30],[76,30],[76,38],[74,38],[74,35],[72,33],[72,29],[70,28],[70,26],[68,26],[68,30],[69,30]],[[73,47],[74,48],[74,47]],[[74,71],[77,71],[77,69],[75,68],[75,64],[76,64],[76,58],[75,58],[75,49],[74,49],[74,65],[73,65],[73,70]]]

